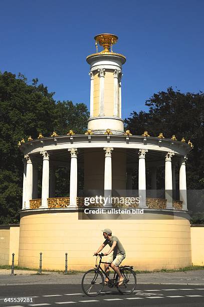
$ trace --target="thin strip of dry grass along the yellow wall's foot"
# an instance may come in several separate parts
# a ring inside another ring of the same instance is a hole
[[[0,270],[1,269],[11,269],[11,265],[0,265]],[[36,273],[32,274],[32,275],[40,275],[38,268],[28,268],[28,267],[15,266],[14,270],[36,271]],[[204,265],[191,265],[191,266],[186,266],[186,267],[180,267],[178,269],[162,268],[162,269],[155,269],[153,271],[135,270],[135,273],[140,274],[140,273],[162,273],[162,272],[186,272],[186,271],[193,271],[193,270],[204,270]],[[63,274],[65,271],[64,270],[42,270],[42,272],[43,272],[42,275],[45,275],[46,272]],[[84,272],[85,271],[68,270],[67,274],[71,275],[71,274],[79,274],[79,273],[84,273]]]

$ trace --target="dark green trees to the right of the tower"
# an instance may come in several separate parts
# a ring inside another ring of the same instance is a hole
[[[189,139],[194,145],[188,155],[186,165],[187,189],[203,188],[204,170],[204,94],[181,93],[173,90],[154,94],[145,102],[148,112],[132,112],[125,119],[125,125],[131,133],[141,135],[147,130],[151,136],[158,136],[162,132],[165,138],[176,135],[178,140],[182,137]],[[163,180],[163,177],[161,178]]]

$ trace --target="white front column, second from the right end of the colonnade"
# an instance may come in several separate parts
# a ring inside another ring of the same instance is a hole
[[[172,169],[171,169],[171,157],[174,156],[174,152],[167,152],[165,158],[165,198],[166,209],[173,209],[172,201]]]

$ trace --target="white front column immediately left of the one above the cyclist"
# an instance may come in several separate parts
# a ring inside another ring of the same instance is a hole
[[[70,206],[77,208],[77,149],[68,149],[71,154],[70,164]]]

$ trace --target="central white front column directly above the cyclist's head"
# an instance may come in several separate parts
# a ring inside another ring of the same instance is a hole
[[[104,197],[112,196],[112,160],[111,151],[113,148],[103,148],[105,150],[105,168],[104,168]],[[107,206],[112,206],[111,201],[107,202]]]

